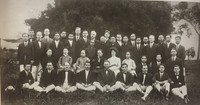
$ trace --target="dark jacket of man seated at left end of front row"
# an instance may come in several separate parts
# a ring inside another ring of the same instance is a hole
[[[28,72],[28,75],[26,74],[24,70],[20,72],[19,81],[18,81],[20,87],[22,87],[24,83],[32,84],[33,82],[34,82],[34,79],[30,72]]]

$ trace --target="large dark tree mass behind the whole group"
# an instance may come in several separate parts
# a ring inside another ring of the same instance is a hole
[[[111,35],[121,33],[130,36],[166,35],[172,31],[171,5],[169,2],[145,2],[130,0],[55,0],[48,4],[38,19],[25,23],[33,30],[50,28],[72,33],[79,26],[88,31],[96,30],[98,37],[110,30]]]

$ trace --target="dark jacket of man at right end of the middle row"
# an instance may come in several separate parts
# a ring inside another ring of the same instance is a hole
[[[175,61],[172,61],[172,58],[169,58],[166,63],[165,63],[165,68],[166,68],[166,72],[167,74],[169,74],[170,76],[172,74],[174,74],[174,65],[179,65],[180,67],[180,74],[183,75],[183,61],[182,59],[176,57]]]

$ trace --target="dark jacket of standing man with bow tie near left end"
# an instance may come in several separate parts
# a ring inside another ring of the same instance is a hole
[[[42,62],[43,57],[45,56],[45,44],[41,42],[41,48],[39,47],[38,41],[33,42],[33,54],[34,54],[34,63],[33,65],[39,65],[39,62]]]

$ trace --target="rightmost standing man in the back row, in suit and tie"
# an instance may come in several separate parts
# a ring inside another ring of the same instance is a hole
[[[177,51],[177,57],[181,58],[182,61],[185,61],[185,47],[180,44],[181,42],[181,36],[175,37],[176,42],[176,51]]]

